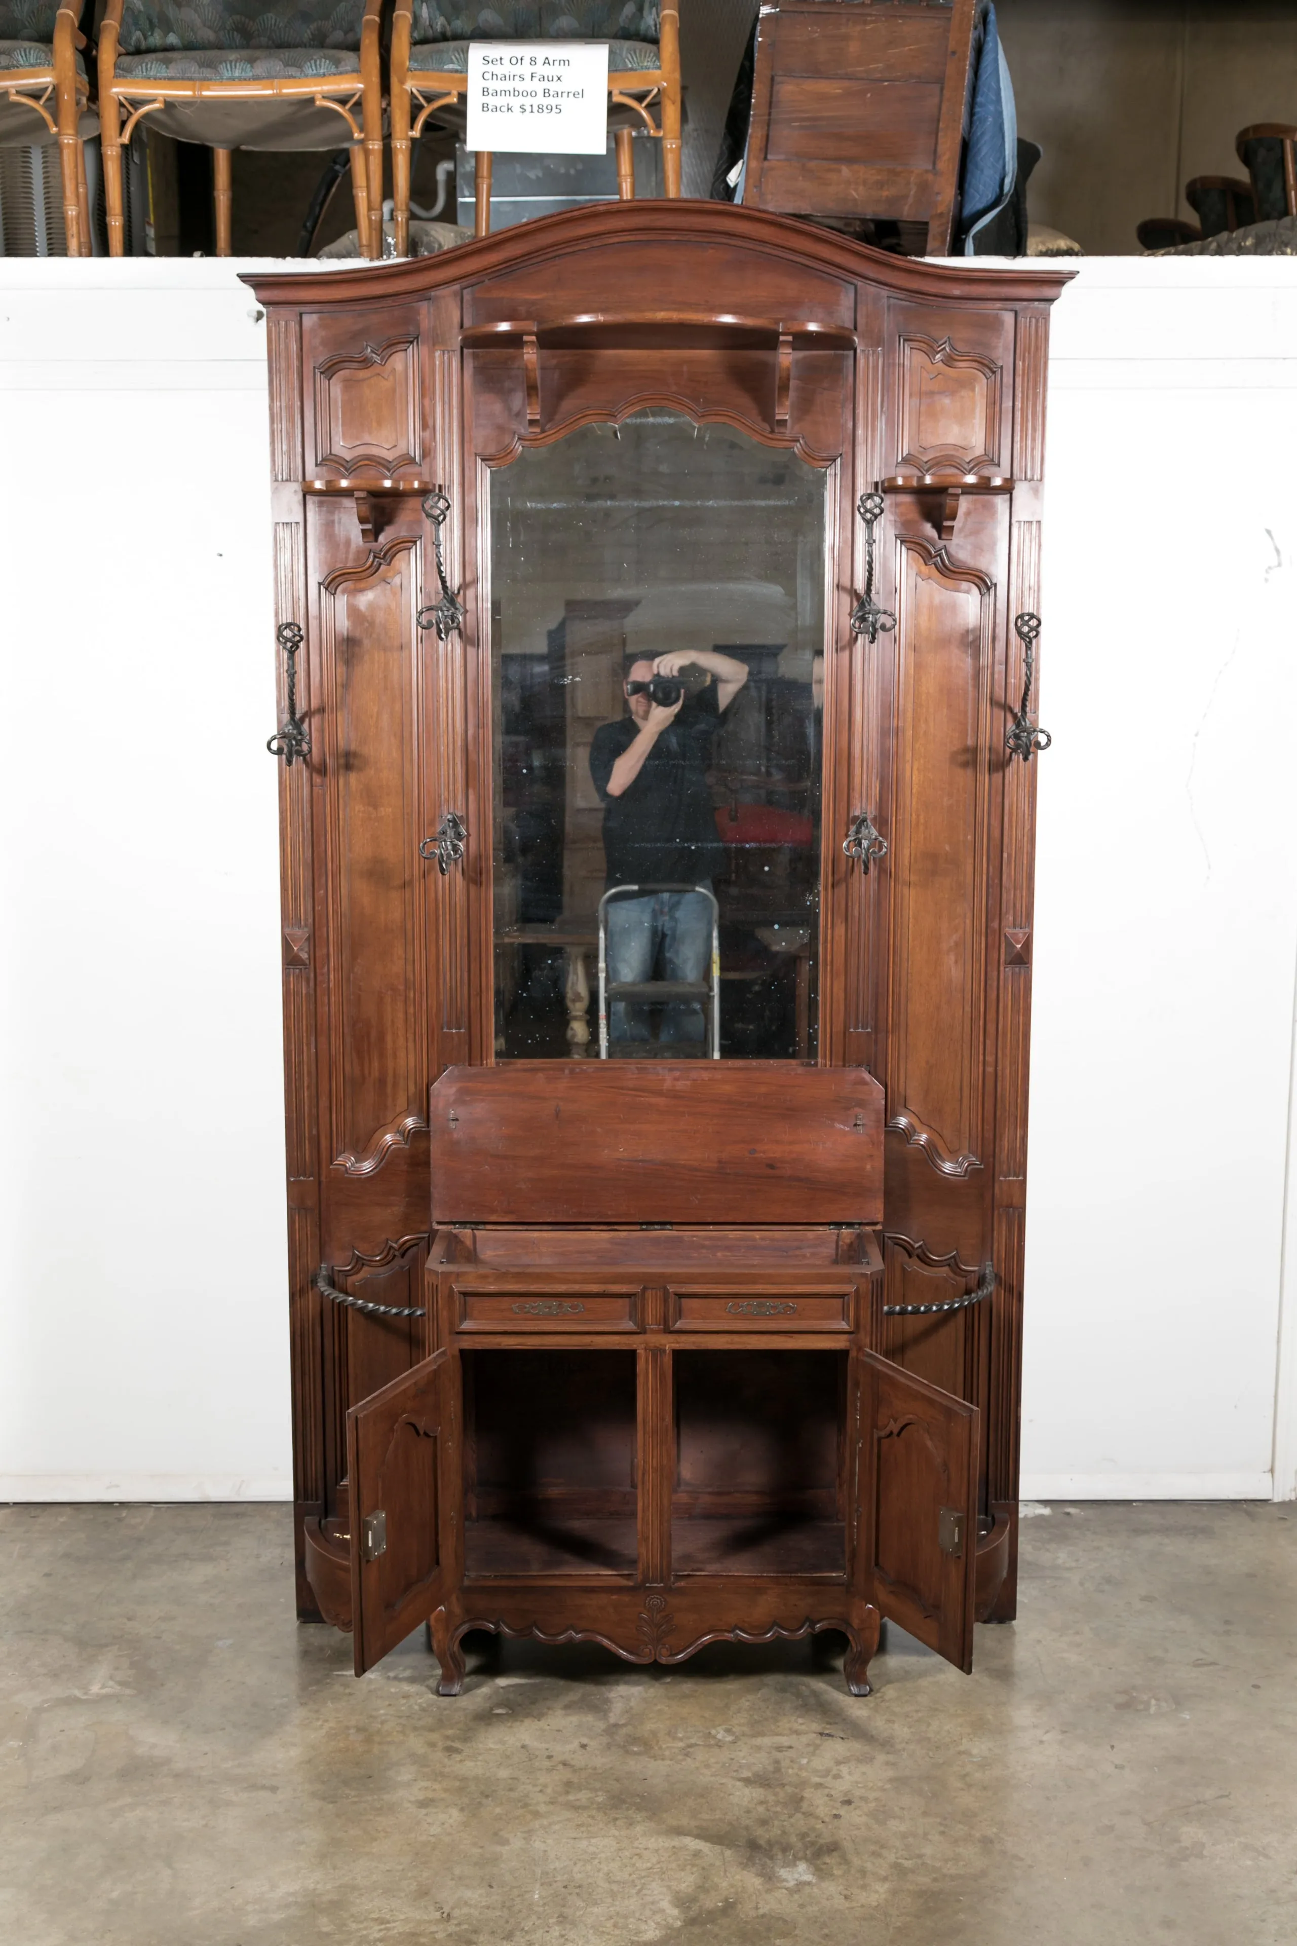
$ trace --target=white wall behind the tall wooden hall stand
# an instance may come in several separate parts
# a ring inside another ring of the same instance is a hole
[[[0,265],[4,1498],[290,1495],[239,269]],[[1285,261],[1091,261],[1054,313],[1029,1496],[1297,1487],[1295,348]]]

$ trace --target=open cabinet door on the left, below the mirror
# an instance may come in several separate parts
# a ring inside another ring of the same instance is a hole
[[[451,1421],[445,1351],[346,1415],[358,1676],[428,1621],[445,1598],[453,1555]]]

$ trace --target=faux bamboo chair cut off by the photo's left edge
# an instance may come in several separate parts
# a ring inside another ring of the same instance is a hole
[[[89,80],[76,10],[58,0],[0,0],[0,146],[58,144],[68,257],[89,257],[86,134]],[[35,117],[35,119],[33,119]]]

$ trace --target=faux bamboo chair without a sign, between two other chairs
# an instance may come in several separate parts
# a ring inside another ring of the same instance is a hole
[[[109,253],[123,253],[123,144],[150,126],[214,152],[216,255],[229,255],[231,152],[350,142],[356,228],[383,255],[383,0],[109,0],[99,121]],[[342,126],[338,126],[342,125]],[[342,132],[346,130],[346,134]]]

